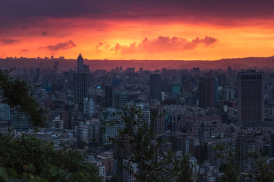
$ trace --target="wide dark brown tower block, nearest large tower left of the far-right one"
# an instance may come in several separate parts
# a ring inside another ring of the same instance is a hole
[[[214,78],[199,78],[199,107],[212,108],[218,102],[218,85]]]

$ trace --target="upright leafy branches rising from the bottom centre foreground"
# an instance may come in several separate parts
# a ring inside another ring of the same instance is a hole
[[[129,106],[116,115],[121,116],[121,121],[116,119],[105,125],[125,125],[119,130],[119,136],[110,140],[122,149],[129,146],[131,154],[127,157],[127,162],[118,160],[136,181],[194,181],[189,156],[181,158],[171,151],[160,153],[160,148],[166,141],[156,140],[153,125],[143,119],[140,109]],[[134,164],[137,164],[138,170],[134,168]]]

